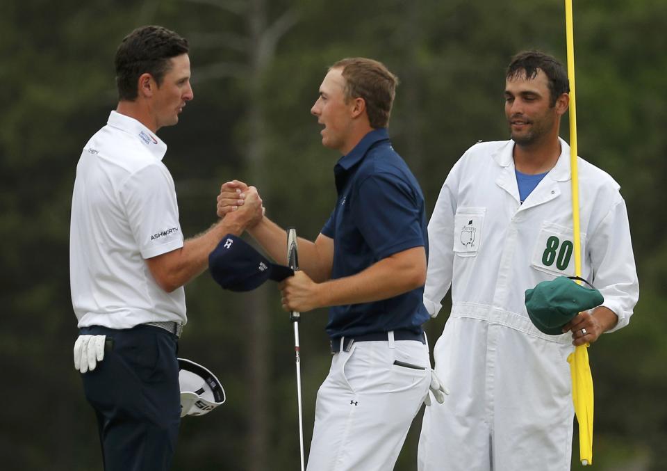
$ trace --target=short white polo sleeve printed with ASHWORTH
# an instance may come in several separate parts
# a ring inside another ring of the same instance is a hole
[[[156,257],[183,247],[174,180],[162,163],[131,174],[120,196],[142,257]]]

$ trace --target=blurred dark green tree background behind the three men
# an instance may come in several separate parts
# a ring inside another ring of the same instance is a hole
[[[595,467],[665,470],[667,2],[582,1],[574,15],[579,153],[622,187],[641,282],[629,327],[590,350]],[[191,44],[195,99],[178,126],[160,130],[186,235],[213,223],[220,184],[238,178],[258,186],[274,221],[317,236],[336,198],[339,156],[322,148],[309,109],[340,58],[377,58],[402,80],[390,134],[429,211],[470,145],[508,137],[509,58],[536,48],[566,61],[559,0],[3,0],[3,470],[101,469],[94,414],[72,367],[69,205],[81,149],[117,102],[115,48],[142,24]],[[217,374],[227,403],[183,420],[174,470],[297,469],[293,331],[277,290],[222,292],[204,274],[186,296],[179,354]],[[301,325],[306,454],[330,362],[326,317],[311,312]],[[431,344],[446,317],[447,306],[427,325]],[[420,422],[397,470],[415,469]]]

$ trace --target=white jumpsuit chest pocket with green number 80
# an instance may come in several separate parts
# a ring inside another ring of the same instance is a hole
[[[575,244],[572,227],[545,221],[535,241],[531,266],[539,271],[555,276],[574,276]],[[582,255],[586,233],[581,233]],[[582,256],[582,264],[584,257]]]

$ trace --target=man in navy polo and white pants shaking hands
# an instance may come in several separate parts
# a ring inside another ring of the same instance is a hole
[[[422,324],[427,260],[424,198],[387,132],[397,78],[351,58],[331,66],[311,113],[322,144],[343,157],[338,201],[315,242],[299,238],[299,266],[281,283],[283,308],[329,307],[334,358],[318,392],[308,470],[390,470],[431,378]],[[243,204],[228,182],[223,216]],[[248,229],[286,263],[286,232],[264,217]]]

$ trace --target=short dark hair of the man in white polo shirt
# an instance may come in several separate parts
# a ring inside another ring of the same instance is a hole
[[[188,53],[188,41],[163,26],[141,26],[118,46],[115,57],[118,98],[134,101],[138,96],[137,81],[149,73],[158,83],[169,72],[172,57]]]

